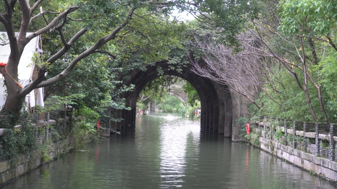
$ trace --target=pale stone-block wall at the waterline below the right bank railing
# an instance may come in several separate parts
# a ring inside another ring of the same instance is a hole
[[[313,154],[294,149],[290,146],[277,143],[264,137],[260,137],[260,148],[295,164],[311,173],[321,175],[324,178],[337,183],[337,162],[320,158]],[[329,151],[327,150],[326,153]]]

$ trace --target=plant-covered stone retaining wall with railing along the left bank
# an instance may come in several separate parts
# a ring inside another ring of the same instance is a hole
[[[68,117],[66,116],[66,111],[53,111],[47,113],[46,116],[40,116],[34,113],[32,117],[33,119],[24,120],[22,123],[29,121],[34,127],[37,150],[34,150],[28,155],[21,155],[11,160],[0,161],[0,186],[37,168],[45,162],[54,160],[61,154],[67,153],[73,146],[71,140],[67,139],[67,137],[61,137],[67,135],[70,131],[70,125],[67,126]],[[58,128],[60,130],[57,140],[53,140],[51,126],[54,129]],[[21,125],[17,125],[13,128],[14,131],[20,131],[21,129]],[[6,129],[0,129],[0,137],[5,130]]]

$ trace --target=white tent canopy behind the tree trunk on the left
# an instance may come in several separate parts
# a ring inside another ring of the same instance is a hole
[[[2,35],[7,37],[7,32],[0,32],[0,37]],[[30,35],[32,33],[27,33]],[[6,42],[8,43],[8,42]],[[39,48],[39,36],[32,39],[25,47],[18,67],[18,79],[20,84],[25,87],[27,84],[33,81],[36,77],[34,76],[34,71],[36,72],[36,68],[32,63],[33,54],[36,52],[42,52]],[[0,62],[6,63],[8,61],[8,57],[10,54],[10,46],[9,44],[0,46]],[[1,67],[0,67],[1,68]],[[0,74],[0,109],[3,107],[6,100],[6,87],[4,85],[4,78]],[[26,102],[29,108],[35,107],[35,105],[44,106],[43,102],[43,88],[34,89],[29,95],[26,96]]]

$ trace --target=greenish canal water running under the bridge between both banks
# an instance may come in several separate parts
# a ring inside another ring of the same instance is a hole
[[[336,189],[245,143],[157,113],[134,130],[44,164],[3,189]]]

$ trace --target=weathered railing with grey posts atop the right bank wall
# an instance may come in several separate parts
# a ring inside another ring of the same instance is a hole
[[[336,161],[337,124],[264,117],[250,123],[252,132],[317,157]]]

